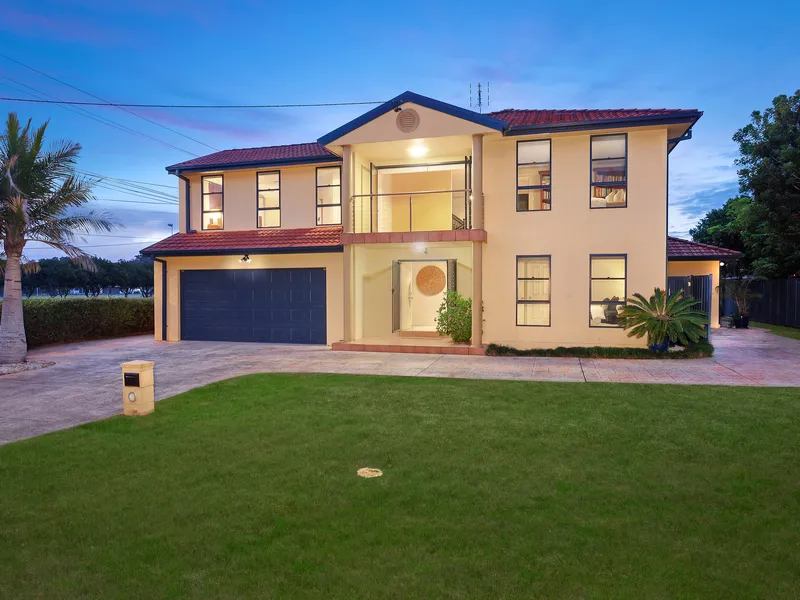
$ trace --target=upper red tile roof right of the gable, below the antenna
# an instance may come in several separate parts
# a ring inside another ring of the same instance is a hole
[[[673,108],[610,108],[577,110],[521,110],[506,108],[488,113],[489,116],[508,123],[510,128],[532,125],[575,125],[593,121],[614,121],[650,117],[683,117],[687,121],[699,113],[695,109]]]

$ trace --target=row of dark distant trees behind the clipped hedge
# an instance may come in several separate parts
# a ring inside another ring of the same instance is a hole
[[[112,262],[94,257],[93,262],[94,270],[88,270],[66,257],[42,259],[37,271],[22,275],[22,293],[28,298],[34,294],[65,298],[79,290],[90,298],[113,288],[126,298],[137,292],[144,298],[153,295],[152,259],[140,255]]]

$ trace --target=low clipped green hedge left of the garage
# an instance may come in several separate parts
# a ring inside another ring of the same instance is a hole
[[[2,302],[0,302],[2,305]],[[23,300],[28,348],[153,333],[152,298]]]

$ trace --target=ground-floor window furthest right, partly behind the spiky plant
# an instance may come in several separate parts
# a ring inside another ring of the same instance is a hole
[[[619,311],[627,297],[625,254],[589,257],[589,326],[619,327]]]

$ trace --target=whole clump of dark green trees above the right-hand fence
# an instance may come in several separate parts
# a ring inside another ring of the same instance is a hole
[[[709,211],[692,239],[738,250],[741,275],[800,274],[800,90],[780,95],[733,136],[740,196]]]

